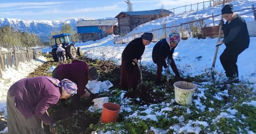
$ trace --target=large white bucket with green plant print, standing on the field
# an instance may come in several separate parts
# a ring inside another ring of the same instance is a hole
[[[190,105],[193,100],[196,85],[186,81],[178,81],[173,84],[175,101],[181,105]]]

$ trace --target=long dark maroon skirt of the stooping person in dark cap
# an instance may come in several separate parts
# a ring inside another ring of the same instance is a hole
[[[121,88],[126,89],[137,89],[139,84],[139,67],[137,64],[130,65],[126,60],[122,60],[121,64]],[[128,69],[129,68],[129,69]],[[129,71],[128,71],[129,70]]]

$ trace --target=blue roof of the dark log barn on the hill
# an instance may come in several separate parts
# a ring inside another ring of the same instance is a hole
[[[147,11],[132,11],[132,12],[121,12],[119,13],[115,18],[118,18],[122,14],[128,14],[128,15],[157,15],[162,13],[163,11],[166,11],[166,14],[173,14],[173,12],[166,10],[166,9],[155,9],[155,10],[147,10]]]

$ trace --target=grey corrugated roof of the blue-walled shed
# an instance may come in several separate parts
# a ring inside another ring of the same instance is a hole
[[[112,20],[82,20],[75,27],[81,26],[112,26],[117,24],[117,19]]]

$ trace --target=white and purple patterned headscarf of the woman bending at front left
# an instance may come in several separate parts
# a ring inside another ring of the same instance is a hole
[[[54,85],[62,88],[62,90],[67,91],[67,93],[70,94],[71,96],[77,93],[77,84],[68,79],[63,79],[59,81],[58,79],[55,79],[55,78],[50,78],[50,77],[45,77],[45,78],[51,81]]]

